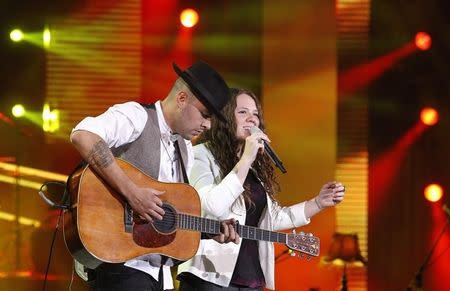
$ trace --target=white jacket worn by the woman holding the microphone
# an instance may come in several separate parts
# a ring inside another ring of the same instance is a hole
[[[231,171],[222,180],[220,169],[211,152],[200,144],[194,147],[195,162],[189,177],[200,195],[202,216],[217,220],[235,218],[245,224],[244,191],[236,173]],[[283,230],[309,223],[305,217],[305,203],[280,207],[267,196],[267,207],[259,221],[259,228]],[[241,240],[242,241],[242,240]],[[178,273],[190,272],[195,276],[221,286],[230,284],[241,244],[220,244],[212,239],[200,241],[196,255],[178,266]],[[266,281],[266,288],[275,289],[274,246],[271,242],[258,244],[259,260]]]

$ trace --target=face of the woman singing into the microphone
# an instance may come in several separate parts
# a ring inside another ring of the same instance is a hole
[[[255,100],[247,94],[238,95],[234,117],[236,118],[236,138],[245,140],[250,135],[250,128],[259,127],[259,111]]]

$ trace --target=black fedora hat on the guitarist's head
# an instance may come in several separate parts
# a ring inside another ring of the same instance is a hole
[[[212,114],[225,121],[220,111],[230,99],[230,89],[222,76],[203,61],[194,63],[184,71],[173,63],[173,69],[188,84],[198,100]]]

